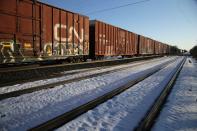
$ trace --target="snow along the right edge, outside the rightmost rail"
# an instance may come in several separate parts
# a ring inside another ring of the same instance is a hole
[[[197,131],[197,61],[188,58],[154,131]]]

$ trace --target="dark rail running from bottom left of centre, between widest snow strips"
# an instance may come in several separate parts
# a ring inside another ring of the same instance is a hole
[[[166,62],[165,64],[163,64],[162,66],[157,66],[157,68],[151,68],[149,69],[149,72],[147,72],[146,74],[143,74],[141,77],[135,78],[132,81],[129,81],[128,83],[120,86],[119,88],[116,88],[115,90],[108,92],[92,101],[89,101],[86,104],[83,104],[69,112],[65,112],[64,114],[49,120],[43,124],[38,125],[37,127],[31,128],[30,130],[32,131],[37,131],[37,130],[52,130],[55,128],[58,128],[60,126],[62,126],[63,124],[75,119],[76,117],[78,117],[79,115],[87,112],[88,110],[91,110],[93,108],[95,108],[96,106],[106,102],[107,100],[113,98],[114,96],[124,92],[125,90],[127,90],[128,88],[131,88],[133,85],[137,84],[138,82],[146,79],[147,77],[153,75],[154,73],[160,71],[161,69],[163,69],[164,67],[166,67],[170,62]]]

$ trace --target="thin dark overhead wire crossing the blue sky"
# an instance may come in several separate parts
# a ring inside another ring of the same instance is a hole
[[[125,4],[125,5],[115,6],[115,7],[111,7],[111,8],[102,9],[102,10],[96,10],[96,11],[93,11],[93,12],[89,12],[86,15],[101,13],[101,12],[105,12],[105,11],[109,11],[109,10],[115,10],[115,9],[118,9],[118,8],[123,8],[123,7],[126,7],[126,6],[136,5],[136,4],[140,4],[140,3],[144,3],[144,2],[148,2],[148,1],[150,1],[150,0],[142,0],[142,1],[137,1],[137,2],[132,2],[132,3],[129,3],[129,4]]]

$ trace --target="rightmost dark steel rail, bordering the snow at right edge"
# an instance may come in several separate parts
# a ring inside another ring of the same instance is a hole
[[[160,110],[162,109],[162,106],[164,105],[168,95],[170,94],[170,91],[173,87],[173,85],[176,82],[176,79],[186,61],[186,58],[184,58],[177,68],[173,72],[173,74],[169,77],[167,84],[164,85],[163,91],[160,93],[160,95],[157,97],[155,103],[152,105],[150,110],[147,112],[145,117],[142,119],[142,121],[139,123],[138,127],[136,127],[136,131],[148,131],[151,129],[152,125],[155,122],[155,119],[159,115]]]

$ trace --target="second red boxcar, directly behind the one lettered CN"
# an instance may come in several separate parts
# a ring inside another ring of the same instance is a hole
[[[90,53],[94,56],[137,54],[137,34],[94,20],[90,24]]]

